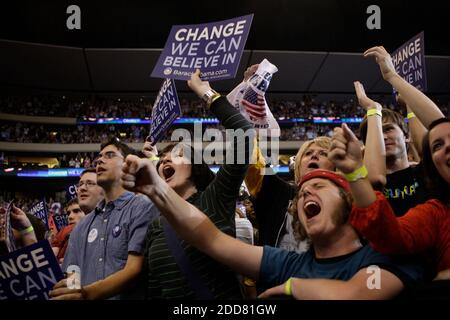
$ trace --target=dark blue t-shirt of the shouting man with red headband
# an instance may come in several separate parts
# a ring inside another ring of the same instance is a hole
[[[359,270],[371,265],[395,274],[405,287],[422,280],[423,268],[420,265],[393,259],[369,245],[350,254],[328,259],[316,259],[312,248],[298,254],[264,246],[258,284],[265,290],[286,282],[290,277],[349,280]]]

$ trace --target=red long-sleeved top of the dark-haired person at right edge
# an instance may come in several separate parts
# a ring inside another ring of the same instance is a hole
[[[437,271],[450,268],[450,208],[432,199],[395,217],[386,198],[376,192],[377,200],[367,208],[353,207],[350,223],[370,245],[384,254],[430,252]]]

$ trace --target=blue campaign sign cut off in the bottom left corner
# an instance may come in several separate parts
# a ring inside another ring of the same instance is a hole
[[[47,240],[0,257],[0,300],[48,300],[63,273]]]

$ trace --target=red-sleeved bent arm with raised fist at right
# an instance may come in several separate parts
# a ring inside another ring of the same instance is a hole
[[[360,171],[361,155],[357,139],[344,124],[335,128],[331,161],[344,174]],[[385,254],[413,254],[434,246],[441,225],[445,225],[445,206],[437,200],[427,201],[397,218],[389,202],[381,193],[375,193],[366,178],[350,181],[353,195],[350,222],[375,250]]]

